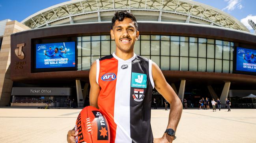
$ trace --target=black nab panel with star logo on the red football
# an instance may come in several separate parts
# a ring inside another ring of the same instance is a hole
[[[106,119],[99,111],[92,111],[97,119],[98,140],[108,140],[108,125]]]

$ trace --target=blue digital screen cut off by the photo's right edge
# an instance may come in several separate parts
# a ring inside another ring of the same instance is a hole
[[[237,47],[236,70],[256,72],[256,50]]]

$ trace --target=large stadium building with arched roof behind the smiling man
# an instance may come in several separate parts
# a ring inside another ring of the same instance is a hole
[[[256,34],[233,16],[191,0],[73,0],[0,22],[0,105],[88,105],[90,66],[115,51],[111,19],[123,10],[138,21],[135,53],[157,63],[189,107],[206,97],[243,107],[240,98],[256,94]]]

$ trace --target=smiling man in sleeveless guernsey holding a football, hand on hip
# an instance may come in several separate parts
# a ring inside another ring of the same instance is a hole
[[[90,105],[107,118],[110,143],[172,143],[182,105],[160,68],[134,53],[139,36],[135,17],[127,11],[117,12],[110,34],[116,42],[116,52],[93,63],[89,74]],[[154,87],[171,104],[166,131],[157,139],[153,139],[150,125]],[[69,130],[67,141],[75,143],[76,135]]]

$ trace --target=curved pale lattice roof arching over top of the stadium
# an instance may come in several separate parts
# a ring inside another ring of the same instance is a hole
[[[22,23],[31,29],[84,22],[111,21],[114,11],[131,11],[137,21],[182,22],[249,30],[239,20],[192,0],[71,0],[43,9]]]

